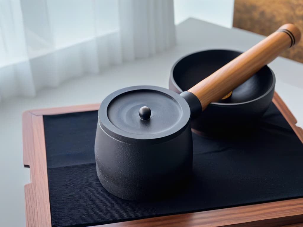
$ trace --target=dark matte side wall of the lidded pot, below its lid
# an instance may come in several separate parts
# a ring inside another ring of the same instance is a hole
[[[97,174],[102,186],[126,200],[151,200],[175,191],[192,171],[190,122],[167,141],[125,142],[98,123],[95,140]]]

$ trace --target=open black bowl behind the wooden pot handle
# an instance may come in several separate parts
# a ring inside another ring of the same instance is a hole
[[[186,91],[240,54],[230,50],[189,54],[172,67],[169,89],[177,93]],[[242,128],[252,127],[270,105],[274,90],[275,75],[264,66],[235,88],[229,98],[209,104],[191,121],[191,128],[203,133],[227,133],[231,129],[241,132]]]

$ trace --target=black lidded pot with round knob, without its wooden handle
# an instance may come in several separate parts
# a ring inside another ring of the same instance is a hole
[[[115,196],[142,201],[167,194],[192,172],[187,102],[155,86],[110,94],[99,109],[95,158],[100,182]]]

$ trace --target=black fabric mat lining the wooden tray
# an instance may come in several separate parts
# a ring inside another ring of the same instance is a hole
[[[98,111],[43,117],[53,226],[97,225],[303,196],[303,144],[274,104],[250,134],[243,131],[225,139],[193,134],[191,181],[180,193],[145,203],[118,199],[100,184],[94,157],[97,119]]]

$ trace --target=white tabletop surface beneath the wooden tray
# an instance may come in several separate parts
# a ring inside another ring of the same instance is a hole
[[[188,19],[176,28],[177,46],[145,60],[119,65],[98,76],[67,81],[39,91],[35,98],[13,98],[0,104],[0,226],[25,226],[22,112],[28,109],[98,103],[110,92],[132,85],[168,87],[171,66],[185,54],[206,49],[245,51],[264,36]],[[276,75],[276,91],[303,126],[303,64],[279,57],[269,64]]]

